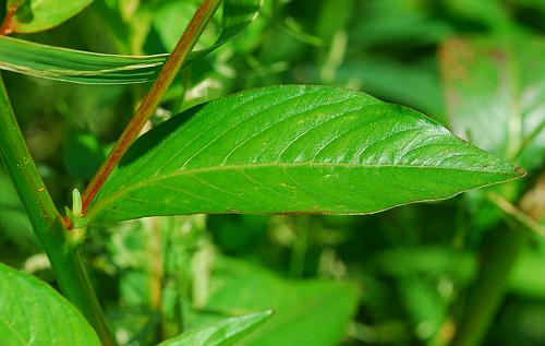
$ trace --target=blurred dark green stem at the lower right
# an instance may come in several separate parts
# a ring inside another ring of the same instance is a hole
[[[481,345],[494,322],[506,294],[514,262],[524,247],[526,232],[508,228],[493,231],[486,239],[479,277],[470,293],[452,346]]]

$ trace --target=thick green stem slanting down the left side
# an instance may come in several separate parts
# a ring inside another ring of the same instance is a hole
[[[114,345],[80,256],[83,230],[68,231],[31,157],[0,75],[0,151],[34,232],[65,297],[82,311],[104,345]]]

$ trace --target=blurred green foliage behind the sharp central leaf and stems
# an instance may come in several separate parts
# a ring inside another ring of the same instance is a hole
[[[24,38],[162,53],[196,3],[96,0]],[[201,47],[216,39],[216,20]],[[545,225],[544,20],[537,0],[265,1],[245,32],[182,72],[150,127],[244,88],[329,84],[420,110],[529,175],[368,216],[195,215],[95,228],[84,251],[118,341],[148,345],[272,308],[241,345],[448,344],[487,244],[530,234],[506,202]],[[92,177],[148,87],[4,79],[58,205]],[[52,282],[4,171],[0,191],[0,261]],[[531,234],[486,344],[545,343],[544,267],[545,240]]]

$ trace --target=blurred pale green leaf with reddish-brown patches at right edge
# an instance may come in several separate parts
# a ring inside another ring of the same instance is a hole
[[[545,157],[545,40],[451,39],[441,51],[455,133],[526,168]]]

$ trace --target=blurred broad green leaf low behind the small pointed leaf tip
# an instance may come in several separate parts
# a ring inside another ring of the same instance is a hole
[[[323,279],[286,281],[249,263],[220,258],[206,309],[244,313],[271,308],[272,319],[244,337],[244,346],[338,345],[355,313],[354,285]]]

